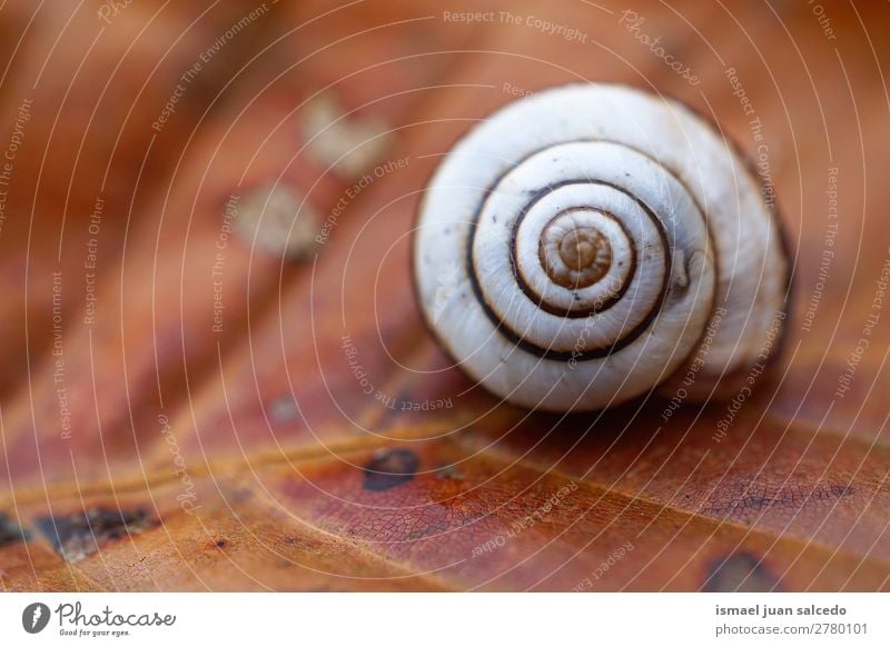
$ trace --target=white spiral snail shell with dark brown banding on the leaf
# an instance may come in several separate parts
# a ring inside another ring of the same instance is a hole
[[[768,188],[678,101],[545,90],[476,126],[431,179],[422,312],[476,382],[531,409],[752,384],[791,272]]]

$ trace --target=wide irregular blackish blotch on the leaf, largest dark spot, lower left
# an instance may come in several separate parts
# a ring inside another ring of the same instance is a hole
[[[68,516],[42,517],[34,525],[62,559],[75,563],[109,541],[146,530],[151,522],[145,510],[90,508]]]

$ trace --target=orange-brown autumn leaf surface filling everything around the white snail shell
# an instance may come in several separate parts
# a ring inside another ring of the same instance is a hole
[[[886,589],[888,27],[805,0],[3,2],[0,583]],[[685,101],[774,186],[785,354],[725,437],[721,404],[502,405],[422,324],[436,163],[591,81]]]

